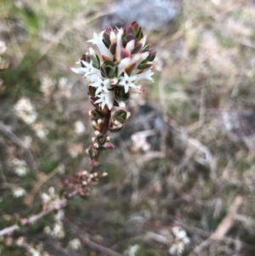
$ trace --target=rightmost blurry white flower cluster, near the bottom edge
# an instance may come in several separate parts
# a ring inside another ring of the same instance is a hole
[[[185,246],[190,243],[190,238],[187,236],[186,231],[179,226],[173,227],[172,232],[175,239],[168,252],[172,255],[180,255],[184,252]]]

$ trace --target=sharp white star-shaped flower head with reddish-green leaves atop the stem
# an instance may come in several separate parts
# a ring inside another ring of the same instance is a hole
[[[146,37],[143,37],[137,23],[133,22],[117,31],[109,28],[99,34],[94,32],[94,38],[88,42],[97,46],[100,55],[96,55],[93,48],[88,48],[85,59],[77,61],[82,67],[71,68],[71,71],[87,78],[89,86],[95,88],[94,97],[97,100],[94,104],[100,104],[102,109],[107,105],[111,110],[115,101],[125,106],[122,100],[117,99],[114,88],[124,88],[125,94],[137,94],[141,92],[137,82],[144,79],[153,81],[152,50],[146,48]],[[148,62],[147,65],[140,67],[144,61]]]

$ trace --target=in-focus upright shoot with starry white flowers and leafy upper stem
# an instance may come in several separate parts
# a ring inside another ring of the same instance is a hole
[[[130,94],[143,92],[138,82],[152,80],[151,71],[156,52],[146,44],[146,37],[136,21],[124,28],[107,28],[88,40],[97,46],[99,54],[88,47],[77,62],[81,66],[71,68],[88,80],[88,95],[95,110],[89,111],[96,135],[97,150],[109,148],[106,133],[117,132],[129,117],[125,101]],[[102,137],[103,136],[103,137]]]

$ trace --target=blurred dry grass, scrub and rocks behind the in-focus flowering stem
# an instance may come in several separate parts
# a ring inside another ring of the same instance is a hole
[[[88,168],[92,106],[68,66],[94,31],[133,20],[157,51],[155,82],[100,158],[108,176],[0,237],[1,255],[106,255],[86,239],[127,256],[255,254],[252,0],[1,0],[0,230]],[[34,120],[19,112],[30,102]]]

